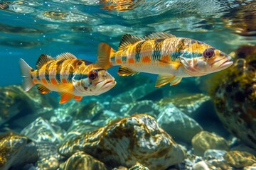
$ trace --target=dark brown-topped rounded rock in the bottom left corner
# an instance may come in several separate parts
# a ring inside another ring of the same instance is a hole
[[[37,159],[36,145],[28,137],[14,134],[0,137],[1,170],[18,169],[28,163],[36,162]]]

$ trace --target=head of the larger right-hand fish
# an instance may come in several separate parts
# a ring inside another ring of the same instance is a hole
[[[185,49],[180,61],[184,72],[193,77],[219,72],[233,64],[232,57],[203,42]]]

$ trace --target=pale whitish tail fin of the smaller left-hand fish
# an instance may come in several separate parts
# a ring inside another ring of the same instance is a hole
[[[23,60],[20,59],[19,61],[21,67],[21,75],[24,78],[22,81],[22,87],[24,91],[28,91],[35,85],[31,79],[31,67]]]

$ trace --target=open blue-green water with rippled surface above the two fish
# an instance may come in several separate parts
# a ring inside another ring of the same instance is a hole
[[[34,66],[42,53],[71,52],[95,62],[98,43],[117,49],[125,33],[168,32],[201,40],[225,53],[255,43],[254,1],[0,2],[0,86],[21,84],[21,57]],[[118,4],[124,11],[115,9]],[[116,68],[110,72],[114,74]]]

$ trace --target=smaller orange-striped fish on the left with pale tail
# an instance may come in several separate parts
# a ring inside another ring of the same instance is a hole
[[[87,60],[77,59],[66,52],[56,58],[41,55],[32,69],[23,59],[20,60],[23,89],[28,91],[35,84],[41,94],[58,91],[60,103],[82,96],[99,95],[112,89],[114,78],[102,67]]]

